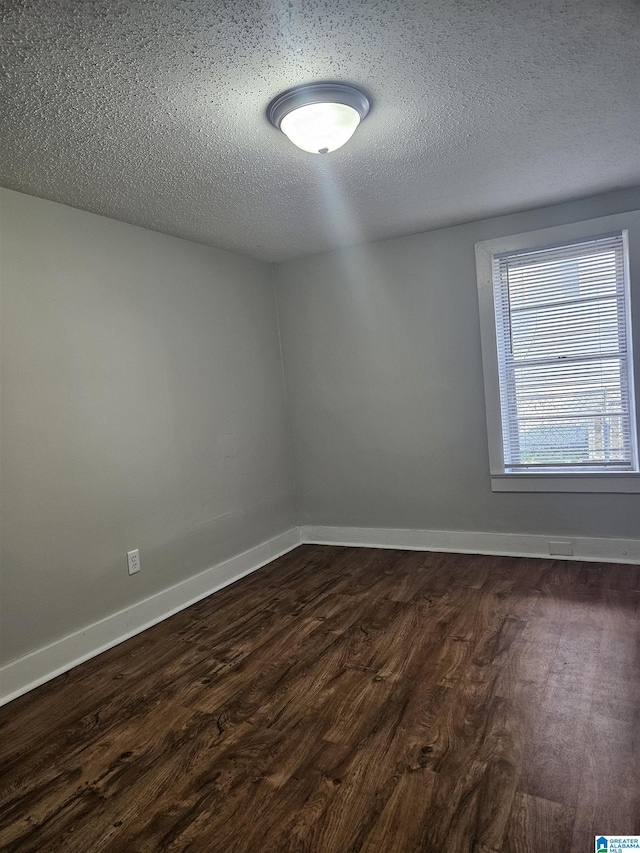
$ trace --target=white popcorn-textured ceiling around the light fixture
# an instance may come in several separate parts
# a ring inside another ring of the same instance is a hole
[[[638,0],[4,0],[0,183],[265,260],[640,184]],[[361,86],[305,154],[269,100]]]

